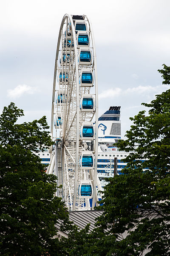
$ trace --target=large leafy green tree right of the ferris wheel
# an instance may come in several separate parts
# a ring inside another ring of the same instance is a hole
[[[158,71],[170,84],[170,67]],[[96,208],[104,213],[93,232],[72,235],[69,255],[170,256],[170,90],[142,105],[148,114],[130,118],[127,140],[117,144],[130,153],[127,167],[107,179],[103,205]]]

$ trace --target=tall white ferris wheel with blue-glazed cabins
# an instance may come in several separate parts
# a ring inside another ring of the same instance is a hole
[[[98,90],[96,51],[86,15],[65,14],[59,30],[52,93],[55,146],[47,173],[69,211],[97,205]],[[60,186],[62,185],[62,186]]]

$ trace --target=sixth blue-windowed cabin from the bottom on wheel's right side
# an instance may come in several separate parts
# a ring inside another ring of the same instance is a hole
[[[80,48],[79,49],[78,62],[79,62],[79,65],[91,65],[92,53],[89,48],[87,48],[87,49]]]

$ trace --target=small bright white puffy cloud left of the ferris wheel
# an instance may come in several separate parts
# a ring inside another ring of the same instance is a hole
[[[19,84],[14,89],[7,90],[7,96],[12,99],[20,98],[23,94],[34,94],[37,87],[31,87],[26,84]]]

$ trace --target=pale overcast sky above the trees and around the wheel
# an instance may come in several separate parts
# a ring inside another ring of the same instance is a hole
[[[11,101],[23,121],[50,125],[57,39],[65,13],[87,15],[97,54],[99,115],[121,106],[122,137],[130,116],[169,88],[157,72],[170,66],[169,0],[0,0],[0,112]]]

